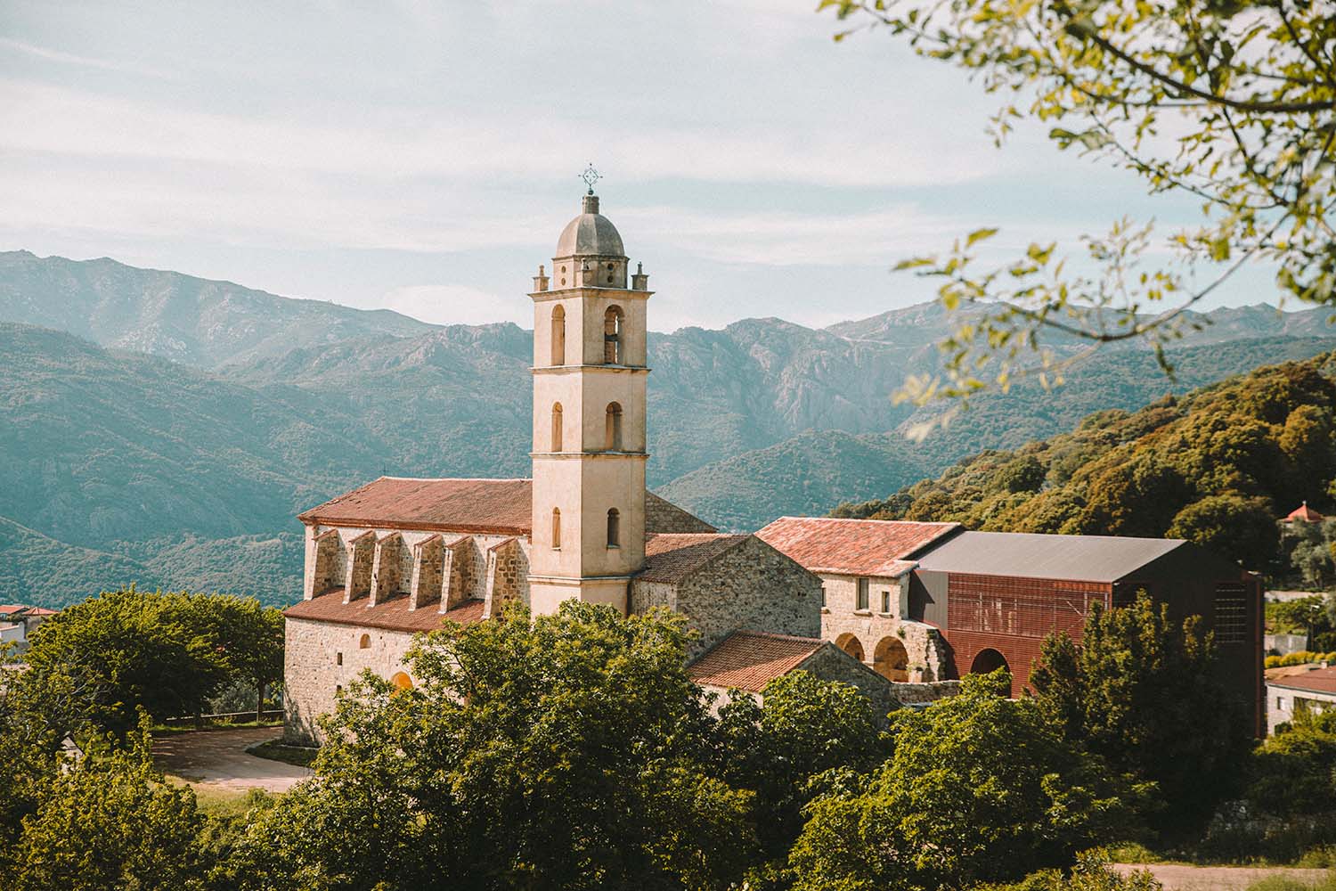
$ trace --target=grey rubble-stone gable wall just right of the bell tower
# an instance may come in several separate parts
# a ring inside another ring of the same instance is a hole
[[[641,585],[632,584],[633,598]],[[676,585],[676,609],[700,635],[688,644],[687,659],[735,631],[818,637],[820,597],[820,578],[751,536]]]

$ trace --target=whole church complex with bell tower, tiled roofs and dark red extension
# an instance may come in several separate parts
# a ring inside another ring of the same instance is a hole
[[[1045,636],[1079,640],[1096,606],[1142,590],[1176,620],[1201,617],[1222,680],[1264,727],[1263,585],[1226,556],[1181,540],[830,517],[725,534],[647,492],[651,295],[591,188],[529,294],[532,478],[382,477],[298,517],[289,740],[318,740],[317,719],[363,669],[410,688],[414,635],[508,602],[665,606],[695,632],[687,671],[707,691],[759,696],[802,669],[852,684],[884,715],[997,668],[1019,696]]]

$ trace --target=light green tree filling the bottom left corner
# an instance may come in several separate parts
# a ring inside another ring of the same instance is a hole
[[[147,728],[132,733],[127,748],[94,740],[51,777],[36,812],[24,819],[7,887],[203,888],[202,827],[195,793],[154,771]]]

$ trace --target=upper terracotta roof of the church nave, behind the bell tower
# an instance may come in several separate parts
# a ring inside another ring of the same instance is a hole
[[[659,496],[645,493],[648,532],[655,522],[668,529],[695,522],[713,529]],[[365,486],[311,508],[302,522],[331,526],[377,526],[430,532],[528,536],[532,525],[530,480],[409,480],[381,477]]]

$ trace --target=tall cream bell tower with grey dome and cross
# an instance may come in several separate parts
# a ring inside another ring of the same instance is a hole
[[[645,302],[621,235],[589,192],[533,279],[534,614],[562,600],[627,610],[645,561]]]

